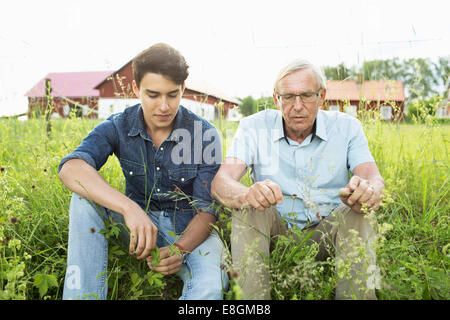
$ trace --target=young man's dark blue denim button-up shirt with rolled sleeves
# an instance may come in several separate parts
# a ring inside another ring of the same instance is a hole
[[[222,161],[216,128],[180,105],[168,138],[156,148],[137,104],[96,126],[59,166],[74,158],[100,170],[108,157],[119,159],[125,194],[148,212],[164,211],[181,234],[197,210],[213,214],[211,181]]]

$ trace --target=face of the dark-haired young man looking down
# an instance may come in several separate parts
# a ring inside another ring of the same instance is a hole
[[[133,81],[133,91],[141,99],[145,123],[150,132],[172,128],[184,88],[184,83],[176,84],[158,73],[146,73],[139,88]]]

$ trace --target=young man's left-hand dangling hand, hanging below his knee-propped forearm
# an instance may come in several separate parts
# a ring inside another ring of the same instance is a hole
[[[144,259],[156,248],[158,228],[139,205],[132,205],[124,214],[125,224],[130,229],[130,254]]]

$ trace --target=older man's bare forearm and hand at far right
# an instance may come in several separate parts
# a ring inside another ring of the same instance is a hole
[[[355,167],[353,176],[345,188],[339,190],[342,202],[357,212],[367,209],[378,210],[384,192],[384,180],[374,162],[365,162]]]

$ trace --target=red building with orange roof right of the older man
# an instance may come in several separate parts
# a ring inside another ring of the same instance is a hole
[[[353,116],[364,111],[380,113],[382,120],[400,121],[405,92],[401,81],[327,81],[324,109]]]

